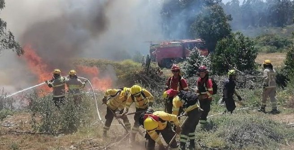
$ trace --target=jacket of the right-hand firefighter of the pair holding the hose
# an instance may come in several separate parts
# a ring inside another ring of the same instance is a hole
[[[80,89],[85,87],[85,83],[77,78],[65,78],[64,82],[69,89],[69,93],[74,95],[79,95],[81,93]]]

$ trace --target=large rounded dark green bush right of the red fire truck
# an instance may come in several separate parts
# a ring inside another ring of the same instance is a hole
[[[240,32],[232,33],[217,43],[211,56],[211,69],[216,74],[224,74],[233,68],[252,73],[256,68],[256,57],[253,41]]]

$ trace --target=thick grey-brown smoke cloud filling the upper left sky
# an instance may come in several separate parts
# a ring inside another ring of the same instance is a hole
[[[155,0],[9,0],[1,18],[21,45],[30,44],[50,69],[66,70],[78,57],[121,60],[136,51],[148,53],[146,41],[163,39],[160,11],[161,2]],[[1,86],[34,83],[23,59],[10,52],[3,55],[0,78],[7,80]]]

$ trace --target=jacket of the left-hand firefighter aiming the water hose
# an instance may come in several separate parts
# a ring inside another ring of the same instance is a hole
[[[53,79],[52,82],[47,82],[47,85],[50,88],[53,88],[53,97],[63,97],[65,96],[65,84],[64,84],[64,78],[62,76],[59,76],[55,79]]]

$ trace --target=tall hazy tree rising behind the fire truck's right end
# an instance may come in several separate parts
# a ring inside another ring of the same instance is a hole
[[[195,38],[206,41],[209,51],[214,51],[216,42],[227,37],[231,33],[229,21],[231,16],[226,16],[223,8],[218,4],[206,6],[197,14],[196,21],[190,30]]]

